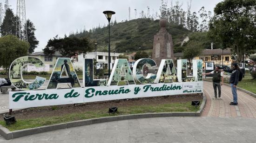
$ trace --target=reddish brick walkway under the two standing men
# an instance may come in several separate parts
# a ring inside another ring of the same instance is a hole
[[[206,106],[202,116],[208,117],[249,117],[256,118],[256,98],[237,90],[238,106],[229,105],[233,96],[231,88],[222,85],[222,99],[212,99],[214,90],[211,82],[204,82]]]

